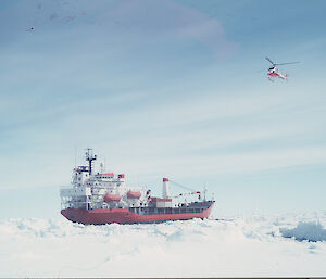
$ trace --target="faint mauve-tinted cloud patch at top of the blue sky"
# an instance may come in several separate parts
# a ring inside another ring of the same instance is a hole
[[[120,24],[128,25],[133,30],[154,37],[196,39],[220,60],[234,54],[237,49],[217,20],[172,1],[121,1],[110,15],[118,17]]]

